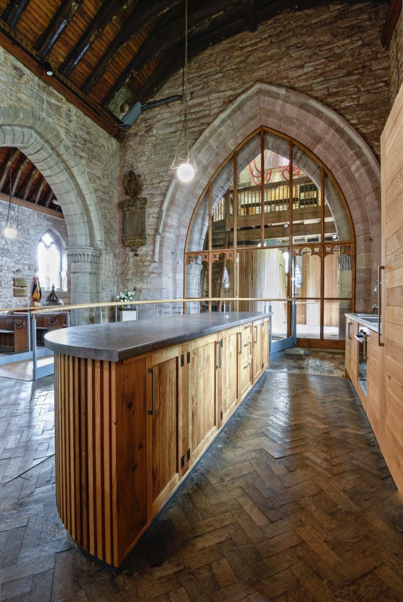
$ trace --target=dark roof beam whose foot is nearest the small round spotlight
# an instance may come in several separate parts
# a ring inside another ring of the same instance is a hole
[[[64,77],[68,77],[77,64],[80,63],[84,54],[86,54],[98,34],[101,33],[109,23],[116,19],[122,10],[125,10],[132,4],[133,1],[134,0],[127,0],[127,2],[121,2],[121,0],[113,0],[111,2],[110,0],[104,0],[95,19],[92,20],[83,36],[81,36],[80,40],[78,40],[70,54],[66,57],[66,60],[64,60],[64,63],[61,64],[58,70],[59,73],[64,75]]]

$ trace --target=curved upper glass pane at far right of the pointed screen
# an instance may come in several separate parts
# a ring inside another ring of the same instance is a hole
[[[328,175],[325,175],[325,240],[352,240],[344,203]]]

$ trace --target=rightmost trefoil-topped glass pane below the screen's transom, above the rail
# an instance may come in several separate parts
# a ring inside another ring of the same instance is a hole
[[[328,249],[329,247],[326,247]],[[325,255],[325,297],[352,297],[352,258],[337,244]]]

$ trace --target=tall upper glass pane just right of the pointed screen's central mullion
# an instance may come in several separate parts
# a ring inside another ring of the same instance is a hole
[[[290,244],[289,141],[264,132],[264,246]]]

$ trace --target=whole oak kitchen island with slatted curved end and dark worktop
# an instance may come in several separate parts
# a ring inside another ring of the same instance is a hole
[[[119,566],[263,374],[269,324],[217,312],[46,335],[57,507],[84,550]]]

